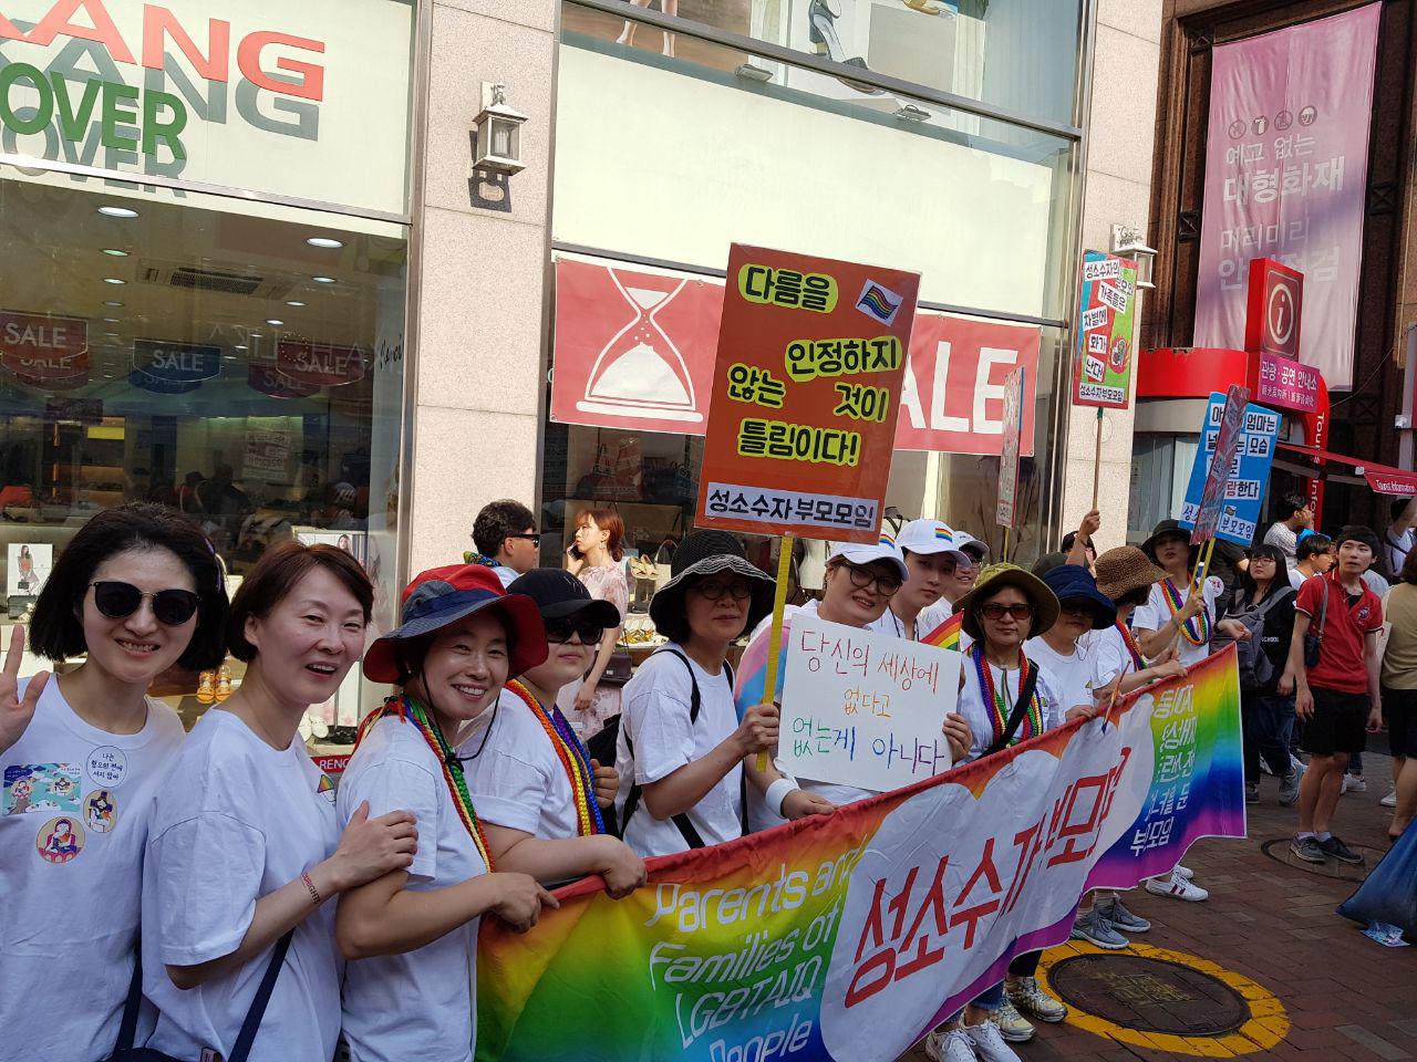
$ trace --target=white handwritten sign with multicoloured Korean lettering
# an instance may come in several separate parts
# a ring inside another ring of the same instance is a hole
[[[959,654],[894,634],[792,617],[778,765],[884,793],[951,766],[939,726],[959,695]]]

